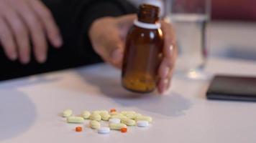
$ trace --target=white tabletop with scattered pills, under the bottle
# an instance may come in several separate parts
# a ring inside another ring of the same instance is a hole
[[[256,63],[210,59],[209,73],[256,76]],[[209,81],[174,77],[165,96],[134,96],[120,85],[120,72],[106,64],[16,79],[0,84],[0,142],[196,142],[255,143],[256,103],[209,101]],[[234,87],[235,88],[235,87]],[[67,124],[63,109],[134,110],[153,117],[151,127],[97,134]]]

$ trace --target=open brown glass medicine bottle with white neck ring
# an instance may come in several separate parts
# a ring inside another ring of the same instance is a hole
[[[156,87],[163,52],[159,11],[157,6],[140,5],[137,23],[127,34],[122,85],[132,92],[152,92]]]

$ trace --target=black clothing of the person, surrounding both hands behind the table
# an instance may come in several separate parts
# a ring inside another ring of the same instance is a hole
[[[64,45],[60,49],[48,45],[47,61],[38,64],[31,52],[31,61],[23,65],[6,58],[0,44],[0,81],[40,74],[47,71],[67,69],[101,61],[93,51],[88,39],[91,23],[102,16],[121,16],[136,12],[132,4],[125,0],[42,0],[50,9]]]

